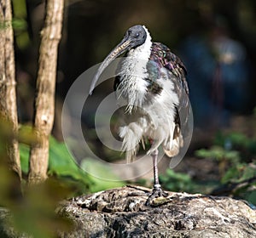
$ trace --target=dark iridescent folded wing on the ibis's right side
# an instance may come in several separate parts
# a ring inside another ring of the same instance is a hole
[[[180,127],[180,122],[187,122],[190,113],[189,87],[186,81],[186,68],[183,61],[173,54],[169,48],[160,42],[153,42],[150,60],[159,67],[165,67],[170,72],[170,80],[179,99],[176,105],[175,122]]]

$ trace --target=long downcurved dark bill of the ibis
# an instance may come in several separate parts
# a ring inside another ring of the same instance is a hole
[[[96,75],[93,77],[92,81],[90,82],[90,90],[89,94],[91,95],[93,89],[95,88],[96,82],[98,81],[99,77],[102,75],[102,72],[108,67],[108,65],[119,57],[120,54],[123,54],[127,48],[129,48],[131,42],[124,38],[119,44],[113,48],[113,50],[108,54],[108,56],[102,62],[102,65],[96,71]]]

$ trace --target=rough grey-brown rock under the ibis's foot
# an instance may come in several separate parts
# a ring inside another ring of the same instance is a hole
[[[75,229],[60,237],[256,237],[256,211],[245,201],[168,192],[145,206],[149,192],[126,186],[63,202],[57,211]]]

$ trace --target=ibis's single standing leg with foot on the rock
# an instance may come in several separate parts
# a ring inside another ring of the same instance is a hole
[[[158,157],[158,150],[154,150],[151,153],[153,159],[153,170],[154,170],[154,188],[151,194],[148,196],[148,200],[146,205],[150,205],[150,201],[154,200],[154,198],[159,196],[167,196],[168,194],[161,189],[161,185],[159,183],[159,176],[158,176],[158,167],[157,167],[157,157]]]

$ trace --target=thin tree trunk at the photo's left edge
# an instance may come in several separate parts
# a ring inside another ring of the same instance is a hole
[[[12,136],[6,140],[9,167],[21,179],[17,140],[18,116],[15,92],[14,32],[10,0],[0,0],[0,118],[8,123]],[[0,128],[1,129],[1,128]]]

